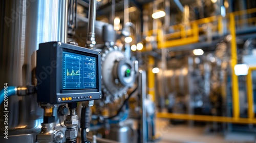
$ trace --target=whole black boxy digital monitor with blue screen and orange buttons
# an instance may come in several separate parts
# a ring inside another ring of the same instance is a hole
[[[69,103],[101,99],[100,53],[72,44],[39,44],[37,102]]]

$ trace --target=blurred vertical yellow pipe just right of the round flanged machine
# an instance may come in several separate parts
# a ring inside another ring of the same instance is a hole
[[[152,95],[152,101],[155,102],[155,74],[152,73],[155,61],[154,57],[148,57],[147,80],[148,80],[148,94]]]

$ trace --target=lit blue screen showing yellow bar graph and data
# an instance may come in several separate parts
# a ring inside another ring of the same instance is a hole
[[[63,89],[95,89],[96,58],[63,51]]]

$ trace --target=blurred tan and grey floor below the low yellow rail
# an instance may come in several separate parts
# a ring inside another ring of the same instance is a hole
[[[205,127],[174,126],[160,118],[156,119],[156,135],[161,138],[159,143],[249,143],[255,139],[246,134],[224,136],[220,133],[206,133]]]

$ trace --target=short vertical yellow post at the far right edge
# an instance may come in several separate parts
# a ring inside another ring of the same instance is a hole
[[[253,119],[254,109],[253,109],[253,93],[252,93],[252,79],[251,79],[251,68],[248,69],[248,74],[246,76],[246,86],[247,86],[247,101],[248,101],[248,118]]]

